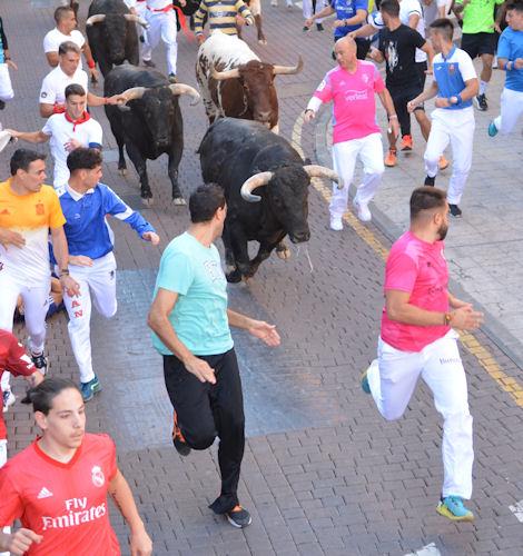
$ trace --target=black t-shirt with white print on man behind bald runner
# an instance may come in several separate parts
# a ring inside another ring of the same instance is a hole
[[[416,48],[422,48],[425,39],[414,29],[399,26],[394,31],[379,31],[379,50],[386,60],[387,88],[413,88],[420,85],[416,69]]]

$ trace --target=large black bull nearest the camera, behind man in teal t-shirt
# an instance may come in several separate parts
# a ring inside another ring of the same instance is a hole
[[[275,248],[280,258],[288,258],[285,236],[293,244],[308,241],[310,178],[338,181],[333,170],[306,165],[286,139],[256,121],[217,120],[198,152],[204,181],[221,186],[227,199],[223,240],[230,282],[254,276]],[[250,240],[259,242],[253,260]]]

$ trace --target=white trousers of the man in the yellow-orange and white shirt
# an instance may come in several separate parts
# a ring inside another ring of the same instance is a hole
[[[0,272],[0,328],[12,332],[12,319],[18,296],[22,296],[26,328],[29,332],[29,349],[32,354],[41,354],[46,341],[46,315],[49,308],[51,278],[39,287],[24,286],[6,272]],[[1,389],[10,388],[11,374],[3,373]]]

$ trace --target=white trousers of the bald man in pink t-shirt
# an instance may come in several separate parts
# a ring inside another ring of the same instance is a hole
[[[333,182],[333,198],[329,205],[333,218],[342,218],[347,210],[348,188],[353,181],[358,156],[363,163],[364,178],[357,188],[356,200],[366,205],[376,195],[382,175],[385,171],[381,133],[371,133],[362,139],[333,145],[334,171],[343,183],[343,189],[338,189],[338,186]]]

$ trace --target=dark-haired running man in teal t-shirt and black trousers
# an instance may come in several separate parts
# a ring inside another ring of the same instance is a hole
[[[164,376],[175,409],[172,441],[182,456],[206,449],[218,436],[221,492],[209,506],[235,527],[250,524],[239,505],[245,418],[241,381],[229,326],[278,346],[274,325],[227,308],[227,281],[214,241],[227,214],[224,191],[200,186],[190,196],[189,229],[164,251],[148,324],[164,356]]]

